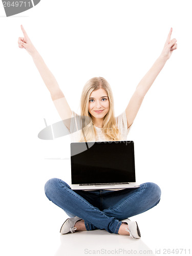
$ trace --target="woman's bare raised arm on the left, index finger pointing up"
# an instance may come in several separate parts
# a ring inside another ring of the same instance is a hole
[[[26,49],[26,51],[32,56],[33,61],[35,63],[35,66],[37,67],[42,80],[44,80],[47,89],[49,90],[51,94],[51,98],[55,104],[55,107],[61,117],[62,120],[71,118],[72,111],[70,109],[70,106],[63,95],[62,91],[59,88],[59,85],[51,73],[51,71],[48,69],[46,63],[38,53],[38,51],[33,46],[29,36],[27,35],[24,27],[21,25],[24,37],[18,38],[18,47],[21,49]]]

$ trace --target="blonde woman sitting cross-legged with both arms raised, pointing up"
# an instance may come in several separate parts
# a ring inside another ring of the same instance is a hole
[[[21,28],[24,37],[18,38],[18,47],[26,49],[32,56],[61,119],[75,119],[75,122],[66,123],[72,141],[75,142],[126,140],[145,94],[173,51],[177,49],[177,40],[170,39],[171,28],[162,53],[141,79],[125,111],[118,117],[114,117],[113,94],[109,83],[102,77],[90,79],[81,95],[81,116],[90,117],[90,122],[78,130],[80,116],[70,109],[55,77],[33,46],[23,26]],[[143,183],[139,188],[87,191],[72,190],[66,182],[57,178],[46,183],[45,193],[49,200],[71,217],[61,226],[62,234],[78,230],[105,229],[110,233],[128,235],[132,238],[140,238],[141,235],[137,222],[127,218],[151,209],[159,203],[161,196],[159,186],[152,182]]]

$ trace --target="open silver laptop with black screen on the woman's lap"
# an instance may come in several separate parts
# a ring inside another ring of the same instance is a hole
[[[133,141],[71,143],[71,188],[136,188]]]

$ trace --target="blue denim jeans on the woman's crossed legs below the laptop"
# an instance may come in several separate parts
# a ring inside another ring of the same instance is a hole
[[[83,219],[87,230],[105,229],[117,234],[121,220],[141,214],[159,203],[161,189],[147,182],[139,188],[116,191],[72,190],[65,181],[53,178],[45,184],[45,193],[69,217]]]

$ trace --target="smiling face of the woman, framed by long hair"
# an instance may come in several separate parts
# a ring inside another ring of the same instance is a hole
[[[109,99],[105,90],[94,90],[89,98],[89,113],[95,118],[103,118],[109,109]]]

